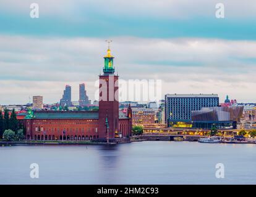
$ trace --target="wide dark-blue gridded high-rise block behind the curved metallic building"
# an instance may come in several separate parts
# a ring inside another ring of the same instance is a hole
[[[165,122],[167,126],[192,127],[191,111],[218,105],[217,94],[166,94]]]

